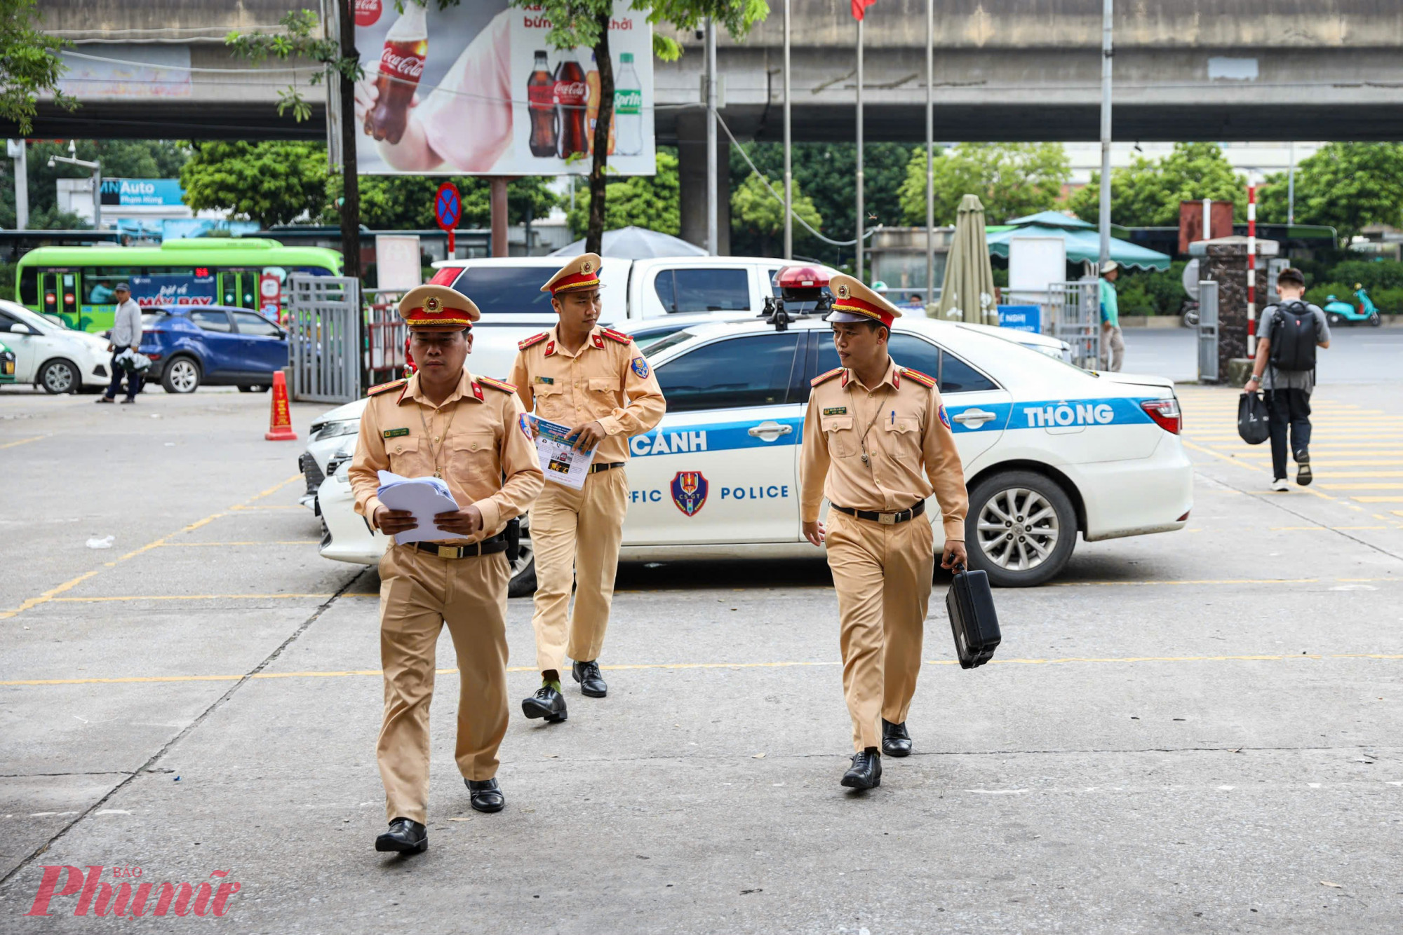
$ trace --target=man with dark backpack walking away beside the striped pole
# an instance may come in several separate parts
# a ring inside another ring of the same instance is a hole
[[[1296,461],[1296,484],[1310,472],[1310,394],[1315,391],[1316,348],[1330,346],[1330,325],[1319,306],[1305,301],[1306,278],[1295,266],[1277,276],[1281,301],[1261,310],[1257,324],[1257,359],[1243,387],[1261,387],[1271,430],[1271,489],[1287,491],[1287,435]]]

